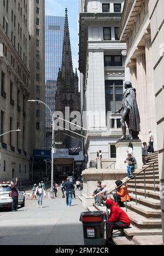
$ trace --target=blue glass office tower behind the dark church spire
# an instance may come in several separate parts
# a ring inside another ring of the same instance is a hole
[[[65,17],[45,16],[45,103],[55,111],[55,93],[58,69],[62,63]],[[45,113],[45,126],[52,128],[49,110]]]

